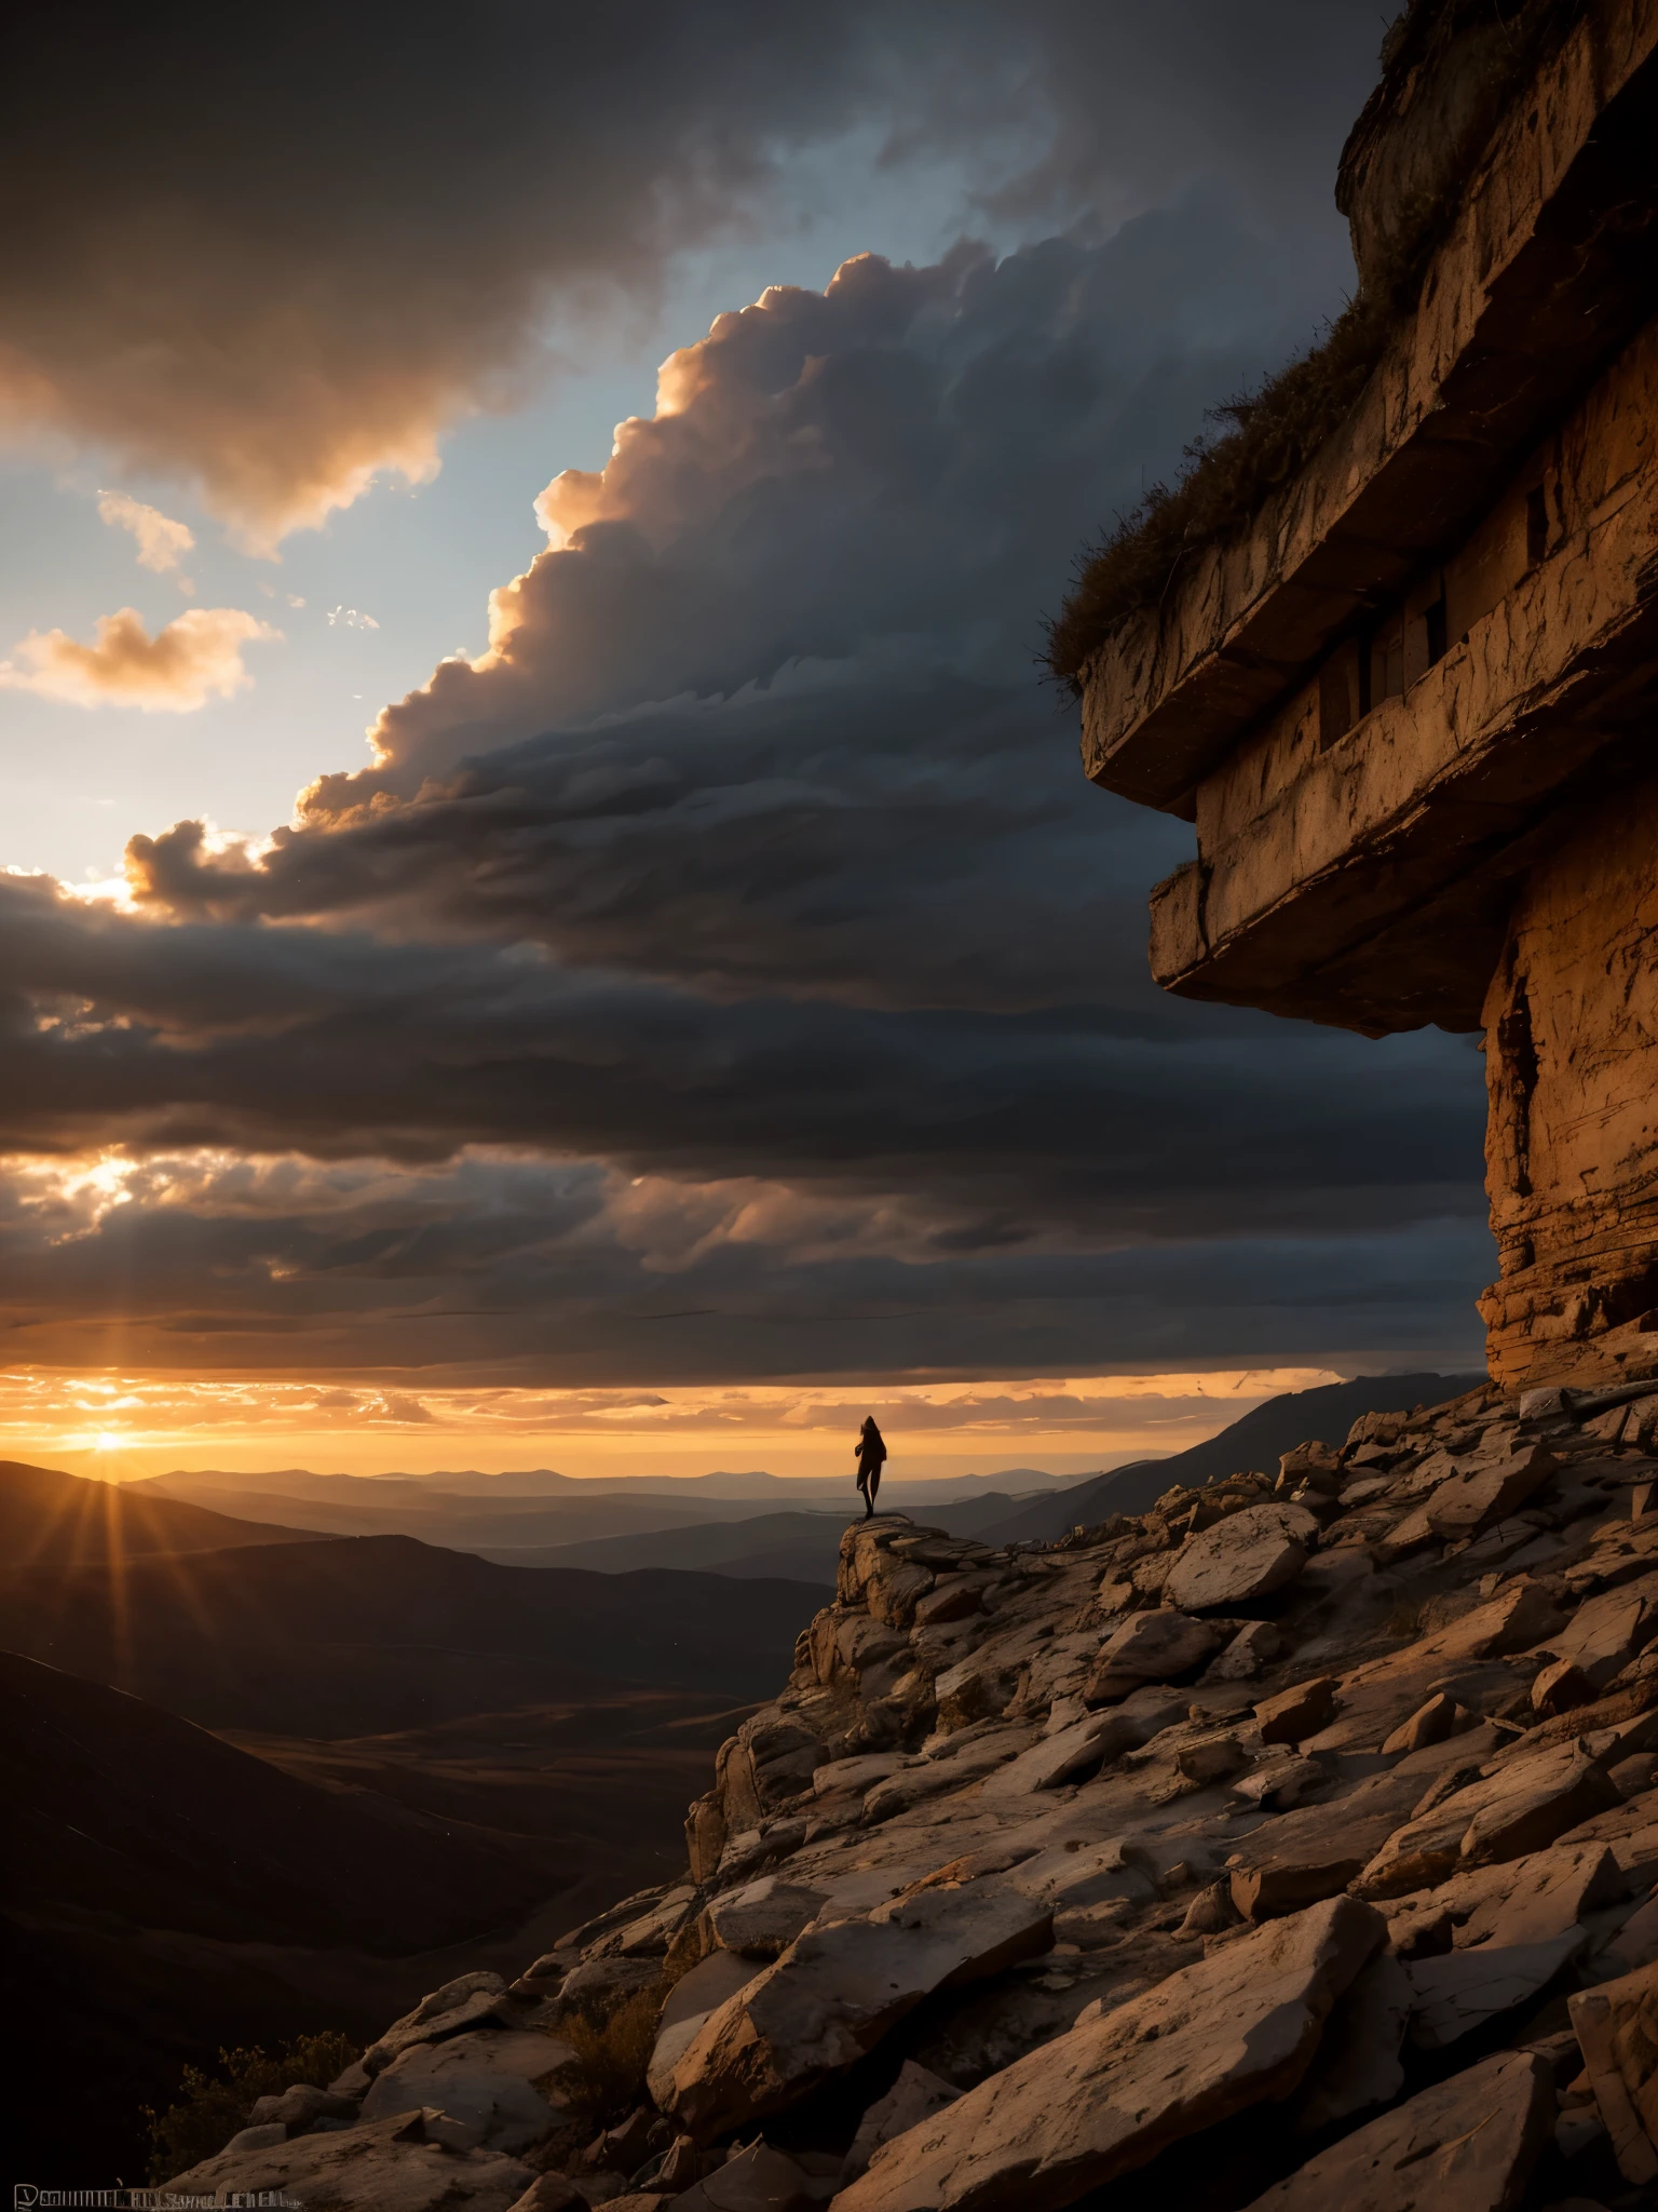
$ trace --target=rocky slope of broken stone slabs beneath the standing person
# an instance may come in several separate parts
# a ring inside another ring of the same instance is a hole
[[[856,1524],[681,1882],[175,2185],[1651,2205],[1654,1482],[1658,1391],[1481,1389],[1046,1548]]]

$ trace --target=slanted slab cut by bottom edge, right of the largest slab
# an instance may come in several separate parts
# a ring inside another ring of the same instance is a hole
[[[1249,2212],[1514,2212],[1554,2135],[1554,2070],[1505,2051],[1342,2137]]]

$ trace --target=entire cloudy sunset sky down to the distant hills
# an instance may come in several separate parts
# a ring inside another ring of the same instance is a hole
[[[1158,993],[1192,832],[1037,666],[1340,310],[1373,4],[35,18],[0,1451],[1085,1471],[1479,1365],[1470,1040]]]

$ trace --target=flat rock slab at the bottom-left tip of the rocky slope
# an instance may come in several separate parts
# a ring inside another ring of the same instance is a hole
[[[431,2112],[433,2124],[438,2112]],[[225,2201],[285,2190],[305,2212],[511,2212],[535,2174],[493,2150],[447,2150],[427,2141],[420,2112],[400,2112],[334,2135],[298,2135],[265,2150],[221,2150],[168,2188]]]

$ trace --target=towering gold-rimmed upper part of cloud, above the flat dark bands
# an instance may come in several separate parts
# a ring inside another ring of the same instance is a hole
[[[135,883],[721,995],[1167,1029],[1143,896],[1189,834],[1081,783],[1039,611],[1311,312],[1211,201],[772,292],[674,356],[601,478],[548,487],[568,544],[495,595],[484,664],[387,710],[378,770],[323,779],[256,867],[139,838]]]

